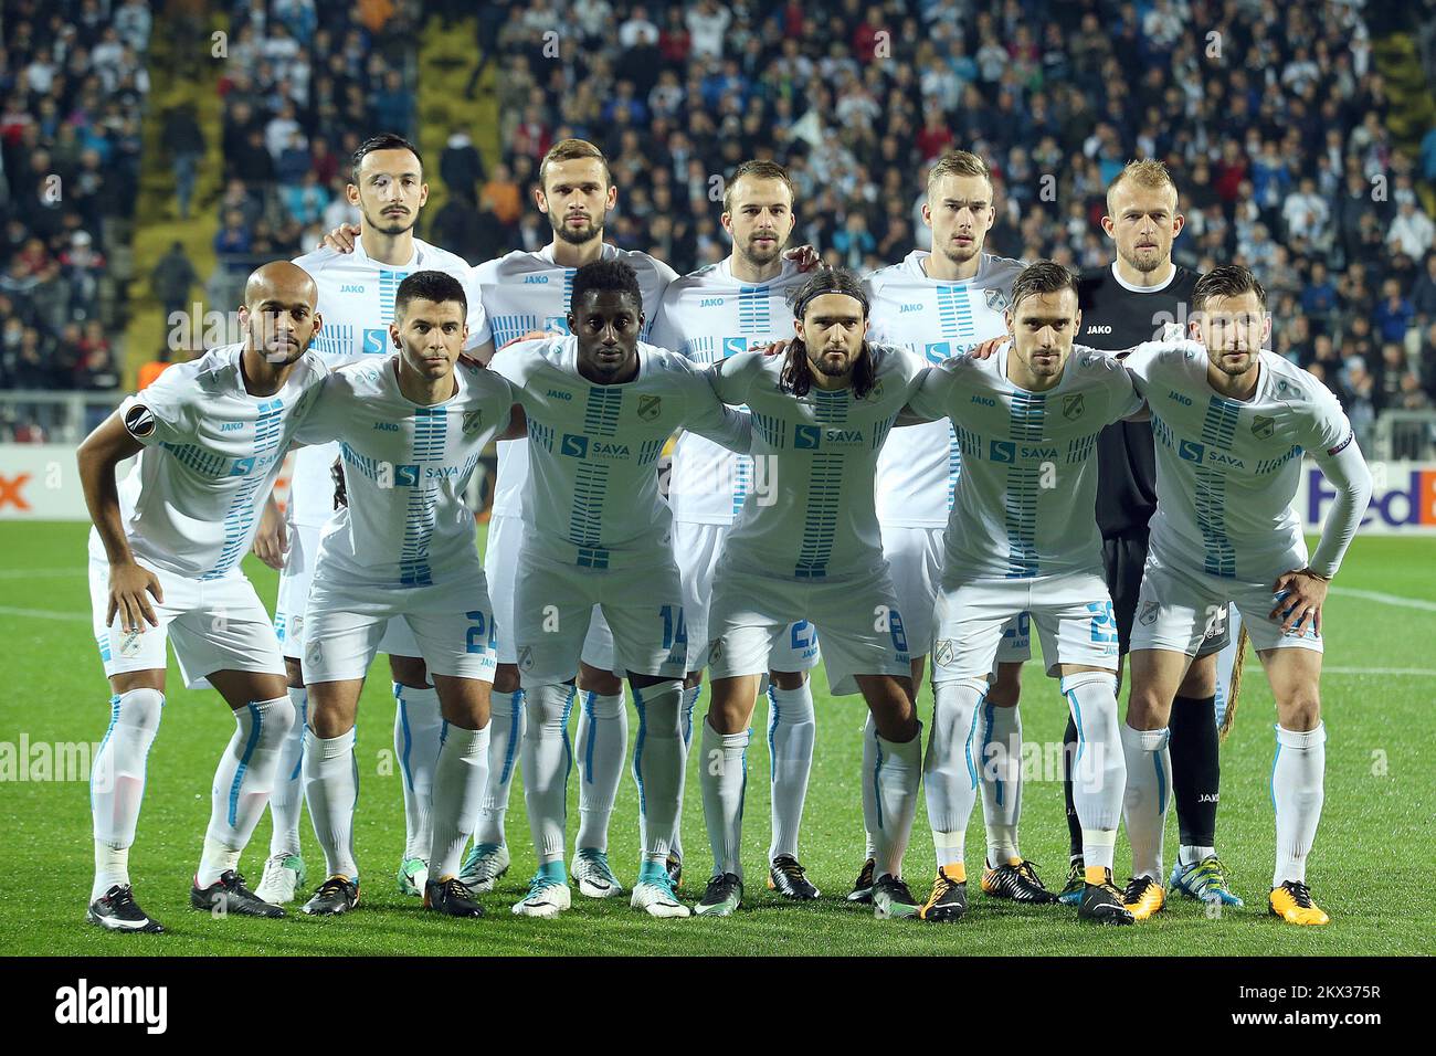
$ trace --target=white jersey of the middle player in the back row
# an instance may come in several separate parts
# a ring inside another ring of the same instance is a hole
[[[794,335],[788,296],[808,279],[791,260],[771,282],[754,286],[732,277],[732,257],[685,274],[668,287],[651,341],[699,366]],[[734,454],[694,432],[673,447],[668,504],[673,520],[732,524],[752,486],[752,458]]]

